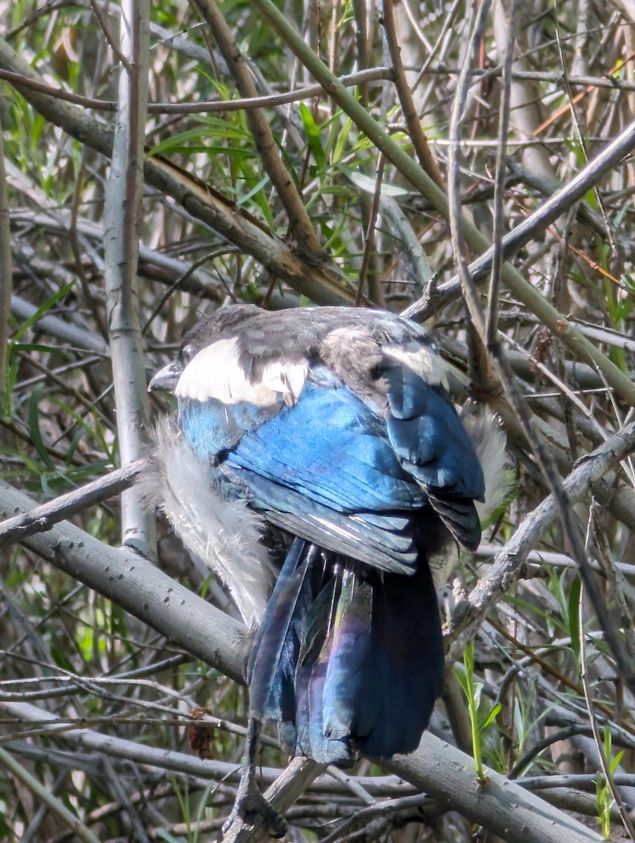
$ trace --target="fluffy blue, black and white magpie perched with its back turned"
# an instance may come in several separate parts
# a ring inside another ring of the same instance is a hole
[[[459,415],[451,379],[429,332],[388,311],[232,304],[150,381],[177,418],[148,497],[253,631],[250,714],[289,755],[390,758],[428,727],[436,588],[504,473],[503,434]]]

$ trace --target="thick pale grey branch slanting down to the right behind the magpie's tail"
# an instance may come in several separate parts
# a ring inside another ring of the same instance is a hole
[[[29,497],[0,483],[0,513],[6,517],[30,508]],[[150,562],[126,548],[110,548],[67,523],[57,524],[50,533],[30,536],[23,543],[196,658],[243,681],[240,639],[245,627]],[[599,835],[504,776],[488,772],[483,785],[468,755],[429,733],[417,752],[382,761],[382,765],[505,840],[600,843]],[[306,769],[307,779],[312,769]]]

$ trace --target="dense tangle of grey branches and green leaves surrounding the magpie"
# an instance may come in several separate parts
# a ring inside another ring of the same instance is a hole
[[[291,768],[289,839],[633,839],[634,25],[630,0],[0,0],[5,518],[143,459],[146,373],[233,300],[407,308],[505,429],[432,727],[476,760],[428,737]],[[209,839],[240,628],[134,491],[102,498],[51,507],[83,533],[0,528],[0,838]]]

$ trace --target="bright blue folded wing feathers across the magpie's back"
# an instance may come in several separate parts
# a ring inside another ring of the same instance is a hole
[[[180,425],[273,523],[330,550],[412,567],[407,526],[428,506],[443,507],[456,537],[476,546],[482,470],[454,406],[406,367],[387,368],[385,384],[382,412],[320,367],[294,404],[189,400]]]

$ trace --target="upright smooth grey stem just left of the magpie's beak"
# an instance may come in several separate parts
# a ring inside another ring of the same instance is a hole
[[[121,464],[139,459],[147,447],[150,402],[143,362],[137,292],[139,226],[143,196],[143,144],[148,103],[148,0],[121,5],[119,105],[106,182],[104,208],[104,280],[117,433]],[[156,557],[151,513],[137,489],[121,495],[121,541]]]

